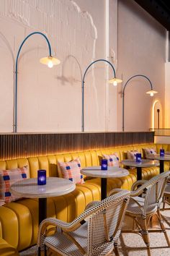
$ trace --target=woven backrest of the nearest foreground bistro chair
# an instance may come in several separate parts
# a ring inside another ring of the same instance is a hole
[[[125,210],[128,206],[129,191],[122,191],[98,202],[88,221],[87,255],[97,255],[107,242],[116,241],[120,235]]]

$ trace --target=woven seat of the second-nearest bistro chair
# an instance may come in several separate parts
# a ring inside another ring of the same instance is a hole
[[[145,202],[145,198],[143,197],[130,197],[130,202],[128,204],[126,213],[141,216],[143,214],[144,202]],[[141,209],[139,208],[139,205],[141,206]],[[148,205],[148,208],[146,210],[146,216],[148,214],[155,213],[156,210],[157,210],[157,204]]]

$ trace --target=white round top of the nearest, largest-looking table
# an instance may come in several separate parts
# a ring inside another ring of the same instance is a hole
[[[22,179],[10,187],[12,194],[27,198],[46,198],[66,195],[72,192],[76,185],[68,179],[48,177],[45,185],[37,185],[37,178]]]

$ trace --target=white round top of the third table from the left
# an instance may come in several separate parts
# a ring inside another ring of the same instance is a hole
[[[159,166],[159,162],[156,160],[150,159],[142,159],[141,163],[137,163],[135,160],[125,159],[121,161],[122,164],[125,166],[132,166],[132,167],[153,167]]]

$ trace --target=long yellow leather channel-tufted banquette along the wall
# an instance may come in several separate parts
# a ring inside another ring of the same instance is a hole
[[[138,150],[143,155],[143,148],[165,148],[170,145],[133,145],[120,148],[105,148],[84,152],[62,153],[57,155],[17,158],[0,161],[0,169],[13,169],[29,166],[30,178],[37,177],[37,170],[46,169],[47,176],[60,176],[58,161],[71,161],[79,157],[81,167],[99,166],[102,154],[117,153],[120,160],[127,158],[128,150]],[[144,156],[144,155],[143,155]],[[165,164],[166,171],[169,163]],[[143,168],[143,179],[150,179],[159,173],[159,168]],[[136,181],[136,170],[130,169],[128,176],[108,179],[108,191],[113,188],[131,189]],[[72,221],[92,200],[100,199],[100,179],[87,179],[84,184],[77,184],[76,189],[68,195],[48,198],[48,217],[59,218],[63,221]],[[24,198],[16,202],[9,202],[0,207],[0,255],[18,255],[19,251],[37,243],[38,231],[38,201]]]

